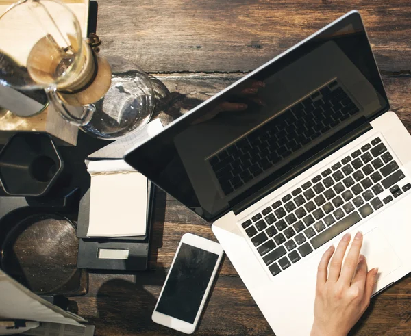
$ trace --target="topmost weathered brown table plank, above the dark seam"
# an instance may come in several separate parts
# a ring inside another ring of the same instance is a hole
[[[101,0],[97,33],[104,52],[148,72],[247,72],[353,9],[380,68],[410,70],[403,0]]]

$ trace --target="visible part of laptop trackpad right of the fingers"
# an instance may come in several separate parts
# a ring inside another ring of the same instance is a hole
[[[395,250],[377,227],[364,235],[361,253],[366,257],[369,270],[378,268],[377,281],[384,279],[401,266],[401,260]]]

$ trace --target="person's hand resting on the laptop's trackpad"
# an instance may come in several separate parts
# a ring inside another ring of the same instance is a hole
[[[361,232],[354,237],[343,266],[350,238],[347,233],[335,253],[330,246],[319,263],[311,336],[347,335],[369,306],[378,268],[367,272],[365,257],[360,255]]]

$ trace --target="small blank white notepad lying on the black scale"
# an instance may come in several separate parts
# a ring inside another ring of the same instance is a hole
[[[147,177],[123,160],[90,161],[88,237],[146,234]]]

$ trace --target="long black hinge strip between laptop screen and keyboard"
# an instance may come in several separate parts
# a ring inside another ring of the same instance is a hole
[[[346,146],[353,140],[356,140],[356,138],[360,137],[361,135],[363,135],[367,131],[370,131],[371,129],[373,129],[373,127],[369,122],[366,122],[360,127],[356,127],[355,129],[347,133],[347,135],[343,136],[343,138],[339,138],[338,141],[332,142],[332,144],[324,148],[318,154],[316,154],[310,159],[307,159],[303,162],[303,164],[300,164],[295,169],[290,170],[290,172],[288,172],[286,175],[282,175],[281,177],[275,179],[275,181],[267,184],[264,188],[261,188],[258,192],[251,194],[244,201],[241,201],[236,206],[234,206],[232,208],[232,211],[236,215],[240,214],[240,212],[245,211],[245,209],[260,201],[261,198],[264,198],[266,195],[270,194],[274,190],[286,184],[288,181],[294,179],[295,177],[305,172],[315,164],[319,163],[319,161],[322,161],[329,155],[332,155],[332,153],[335,153],[336,151],[338,151],[338,149],[342,148],[343,146]]]

